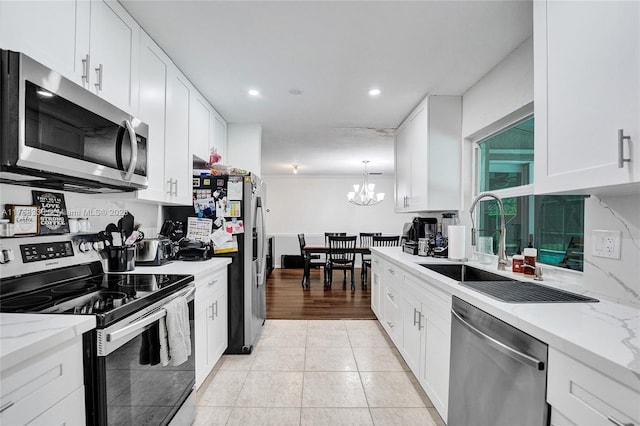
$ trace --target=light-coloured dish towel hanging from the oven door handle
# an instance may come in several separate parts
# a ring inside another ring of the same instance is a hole
[[[176,297],[164,306],[167,316],[160,323],[160,361],[180,365],[191,355],[189,306],[185,297]]]

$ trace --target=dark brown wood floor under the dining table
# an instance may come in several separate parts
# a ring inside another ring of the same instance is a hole
[[[371,311],[370,284],[362,288],[360,269],[356,269],[356,289],[351,290],[347,273],[347,289],[342,288],[341,271],[336,271],[333,286],[325,289],[323,271],[311,271],[310,288],[303,289],[302,269],[276,268],[267,278],[268,319],[375,319]],[[370,280],[370,278],[369,278]]]

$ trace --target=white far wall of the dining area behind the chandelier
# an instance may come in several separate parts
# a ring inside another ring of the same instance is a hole
[[[307,243],[324,244],[324,232],[382,232],[400,235],[415,214],[395,214],[393,177],[374,176],[376,192],[385,200],[361,207],[347,201],[347,192],[361,176],[264,176],[267,184],[267,233],[274,235],[274,257],[280,267],[283,254],[299,255],[298,233]]]

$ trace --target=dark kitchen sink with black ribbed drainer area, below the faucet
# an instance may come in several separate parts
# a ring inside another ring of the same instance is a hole
[[[461,264],[424,264],[420,266],[458,281],[460,285],[507,303],[598,302],[598,299],[545,286],[518,281],[483,269]]]

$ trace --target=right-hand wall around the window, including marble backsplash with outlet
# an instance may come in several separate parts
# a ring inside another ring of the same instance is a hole
[[[514,117],[533,110],[533,43],[529,39],[496,65],[463,95],[463,200],[461,220],[470,228],[468,208],[473,198],[473,143],[495,132]],[[586,290],[640,306],[640,195],[592,196],[585,201],[585,266],[582,276],[549,268],[546,275],[581,282]],[[591,255],[591,232],[622,233],[621,259]],[[469,233],[469,231],[467,231]],[[467,256],[471,255],[467,238]]]

